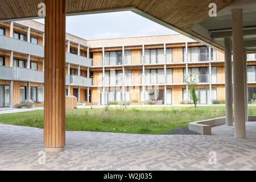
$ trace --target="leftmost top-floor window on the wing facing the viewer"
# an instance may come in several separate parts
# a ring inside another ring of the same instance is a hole
[[[105,52],[105,65],[122,65],[122,57],[122,51]]]

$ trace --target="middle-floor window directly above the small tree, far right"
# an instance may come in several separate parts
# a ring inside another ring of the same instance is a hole
[[[191,73],[195,73],[196,82],[199,83],[208,83],[210,81],[209,77],[209,67],[203,68],[188,68],[188,75]],[[186,68],[183,68],[183,78],[186,75]],[[212,82],[217,82],[217,67],[212,67]]]

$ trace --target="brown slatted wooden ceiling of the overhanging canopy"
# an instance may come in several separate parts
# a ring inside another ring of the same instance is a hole
[[[226,2],[215,0],[214,3],[219,11],[234,1],[236,0]],[[1,0],[0,20],[34,18],[38,16],[38,4],[41,2],[44,3],[44,0]],[[220,45],[191,30],[195,24],[208,18],[209,3],[212,3],[212,0],[67,0],[67,14],[134,7],[172,27],[223,49]]]

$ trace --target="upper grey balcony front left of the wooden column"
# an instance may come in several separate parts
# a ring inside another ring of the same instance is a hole
[[[0,35],[0,49],[44,57],[44,47],[26,41]]]

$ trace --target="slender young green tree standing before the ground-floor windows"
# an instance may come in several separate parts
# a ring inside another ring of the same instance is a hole
[[[195,108],[198,104],[198,101],[200,100],[200,97],[198,94],[196,94],[196,80],[198,78],[198,75],[196,73],[191,73],[189,75],[185,75],[184,82],[188,85],[188,94],[191,100],[193,101]]]

